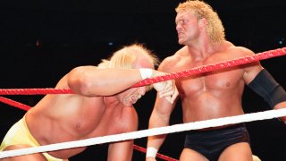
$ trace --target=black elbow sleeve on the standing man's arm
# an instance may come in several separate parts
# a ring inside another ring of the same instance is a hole
[[[264,97],[265,101],[272,108],[276,104],[286,101],[285,90],[265,69],[257,74],[256,78],[248,84],[248,87],[256,91],[261,97]]]

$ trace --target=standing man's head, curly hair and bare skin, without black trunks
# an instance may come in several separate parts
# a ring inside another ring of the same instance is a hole
[[[158,71],[181,72],[202,65],[255,55],[248,48],[237,47],[224,38],[223,25],[217,14],[203,2],[186,1],[179,4],[176,12],[178,42],[183,47],[174,55],[166,57],[159,65]],[[244,114],[241,105],[243,89],[262,70],[261,64],[255,62],[176,79],[183,123]],[[174,106],[175,104],[156,97],[148,128],[168,126]],[[278,109],[282,106],[286,106],[286,102],[281,102],[274,108]],[[283,121],[285,119],[286,117],[283,117]],[[222,129],[226,126],[201,131]],[[159,149],[165,137],[166,135],[148,137],[147,147]],[[155,160],[155,157],[146,158],[146,161]],[[180,160],[206,161],[207,158],[194,149],[183,148]],[[223,150],[218,160],[252,161],[251,148],[245,141],[231,144]]]

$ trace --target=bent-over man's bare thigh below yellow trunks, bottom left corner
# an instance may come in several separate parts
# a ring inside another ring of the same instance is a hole
[[[13,150],[13,149],[20,149],[20,148],[30,148],[27,145],[12,145],[4,148],[4,151]],[[20,161],[20,160],[29,160],[29,161],[46,161],[46,157],[42,154],[30,154],[24,156],[17,156],[17,157],[6,157],[3,158],[1,161]]]

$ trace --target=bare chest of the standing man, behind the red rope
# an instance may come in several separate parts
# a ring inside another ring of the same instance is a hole
[[[227,56],[210,57],[204,61],[181,60],[174,66],[177,72],[200,68],[204,65],[215,64],[228,59]],[[240,87],[243,70],[240,67],[231,67],[214,72],[202,72],[177,79],[177,88],[181,96],[191,96],[202,92],[224,91]]]

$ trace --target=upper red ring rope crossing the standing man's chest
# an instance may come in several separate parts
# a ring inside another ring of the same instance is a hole
[[[192,68],[186,71],[182,72],[172,72],[169,74],[166,74],[164,76],[158,76],[154,78],[149,78],[146,80],[141,80],[138,83],[134,84],[132,88],[140,87],[140,86],[146,86],[148,84],[153,84],[159,81],[164,80],[172,80],[172,79],[178,79],[182,77],[188,77],[191,75],[203,73],[203,72],[211,72],[216,71],[232,66],[238,66],[241,64],[249,64],[252,62],[257,62],[259,60],[264,60],[280,55],[286,55],[286,47],[278,48],[275,50],[269,50],[262,53],[258,53],[256,55],[249,55],[240,57],[237,59],[233,59],[230,61],[225,61],[217,64],[208,64],[199,66],[197,68]],[[0,95],[46,95],[46,94],[71,94],[71,89],[0,89]],[[1,101],[1,99],[0,99]]]

